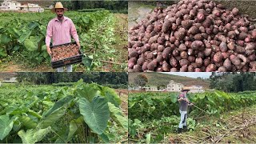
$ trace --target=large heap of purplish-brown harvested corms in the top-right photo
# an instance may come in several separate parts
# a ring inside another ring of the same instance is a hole
[[[256,29],[237,8],[182,0],[129,31],[130,71],[256,71]]]

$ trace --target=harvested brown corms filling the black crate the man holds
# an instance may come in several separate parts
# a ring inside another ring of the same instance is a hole
[[[67,46],[56,46],[53,49],[51,49],[51,52],[51,60],[54,62],[62,60],[64,58],[70,58],[79,55],[79,48],[75,44],[70,44]]]

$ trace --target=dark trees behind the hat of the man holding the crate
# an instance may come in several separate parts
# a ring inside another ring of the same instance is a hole
[[[54,1],[60,2],[60,1]],[[114,1],[114,0],[105,0],[105,1],[61,1],[63,6],[69,10],[82,10],[82,9],[97,9],[104,8],[106,10],[111,10],[114,12],[128,12],[128,1]]]

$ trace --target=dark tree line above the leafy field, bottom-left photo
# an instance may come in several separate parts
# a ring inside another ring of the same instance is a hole
[[[78,82],[79,79],[84,82],[96,82],[100,85],[127,85],[128,74],[120,73],[18,73],[18,82],[27,82],[35,85],[53,84],[59,82]]]

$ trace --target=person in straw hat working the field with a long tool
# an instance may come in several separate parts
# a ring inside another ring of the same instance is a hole
[[[179,113],[181,114],[181,121],[178,125],[178,133],[182,133],[182,130],[186,130],[186,118],[188,113],[188,106],[192,106],[193,103],[190,103],[189,99],[187,98],[187,93],[190,90],[183,89],[182,93],[178,95],[178,102],[179,102]]]

